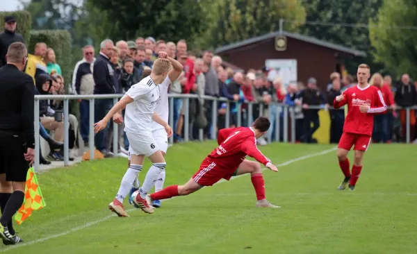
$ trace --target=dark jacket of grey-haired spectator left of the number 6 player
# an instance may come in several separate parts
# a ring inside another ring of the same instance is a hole
[[[97,56],[94,67],[92,67],[94,78],[94,94],[115,94],[117,87],[117,76],[113,64],[103,55]]]

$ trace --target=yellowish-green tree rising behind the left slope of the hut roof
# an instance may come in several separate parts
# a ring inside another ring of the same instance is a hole
[[[207,4],[207,3],[206,3]],[[279,19],[295,20],[286,30],[295,31],[303,24],[306,12],[299,0],[221,0],[205,6],[208,23],[203,46],[221,46],[279,29]]]

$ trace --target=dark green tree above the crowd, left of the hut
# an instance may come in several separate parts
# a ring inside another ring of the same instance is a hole
[[[135,3],[119,0],[86,1],[90,6],[89,11],[97,8],[112,22],[110,30],[106,29],[106,37],[113,40],[132,40],[137,36],[153,36],[174,42],[180,39],[193,40],[206,26],[201,3],[196,0]]]

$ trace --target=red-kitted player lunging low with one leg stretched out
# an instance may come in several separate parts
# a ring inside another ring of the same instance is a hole
[[[160,192],[148,195],[147,200],[136,196],[133,200],[138,203],[152,203],[154,200],[186,196],[204,186],[211,186],[220,179],[229,180],[232,176],[250,173],[252,185],[256,192],[257,207],[279,208],[265,199],[265,183],[263,181],[261,165],[258,162],[245,160],[246,155],[256,159],[268,169],[277,172],[278,169],[256,147],[256,139],[264,135],[270,127],[266,117],[259,117],[251,127],[227,128],[219,131],[219,146],[208,155],[200,165],[199,171],[185,185],[172,185]]]

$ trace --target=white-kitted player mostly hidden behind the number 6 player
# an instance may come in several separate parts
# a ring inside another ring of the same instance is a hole
[[[150,74],[150,73],[149,73]],[[149,75],[148,74],[148,75]],[[142,78],[146,78],[148,75],[142,75]],[[166,81],[166,82],[165,82]],[[165,81],[159,85],[160,92],[161,92],[161,101],[156,105],[155,112],[158,114],[159,117],[163,119],[163,121],[168,122],[168,116],[169,116],[169,108],[168,108],[168,88],[170,87],[170,79],[165,78]],[[121,122],[117,122],[117,124],[121,124]],[[161,153],[163,157],[165,157],[165,154],[167,153],[168,149],[168,136],[165,130],[163,129],[163,126],[160,124],[157,124],[154,122],[154,126],[152,128],[152,136],[154,136],[156,144],[158,144],[159,149],[161,149]],[[130,153],[129,153],[129,167],[130,167]],[[165,171],[162,171],[155,182],[155,192],[159,192],[163,189],[163,183],[165,182]],[[136,178],[136,180],[133,182],[133,187],[131,188],[131,191],[129,193],[129,203],[133,203],[132,194],[133,192],[136,192],[139,189],[139,180]],[[161,208],[161,201],[155,200],[152,203],[152,206],[154,208]]]

